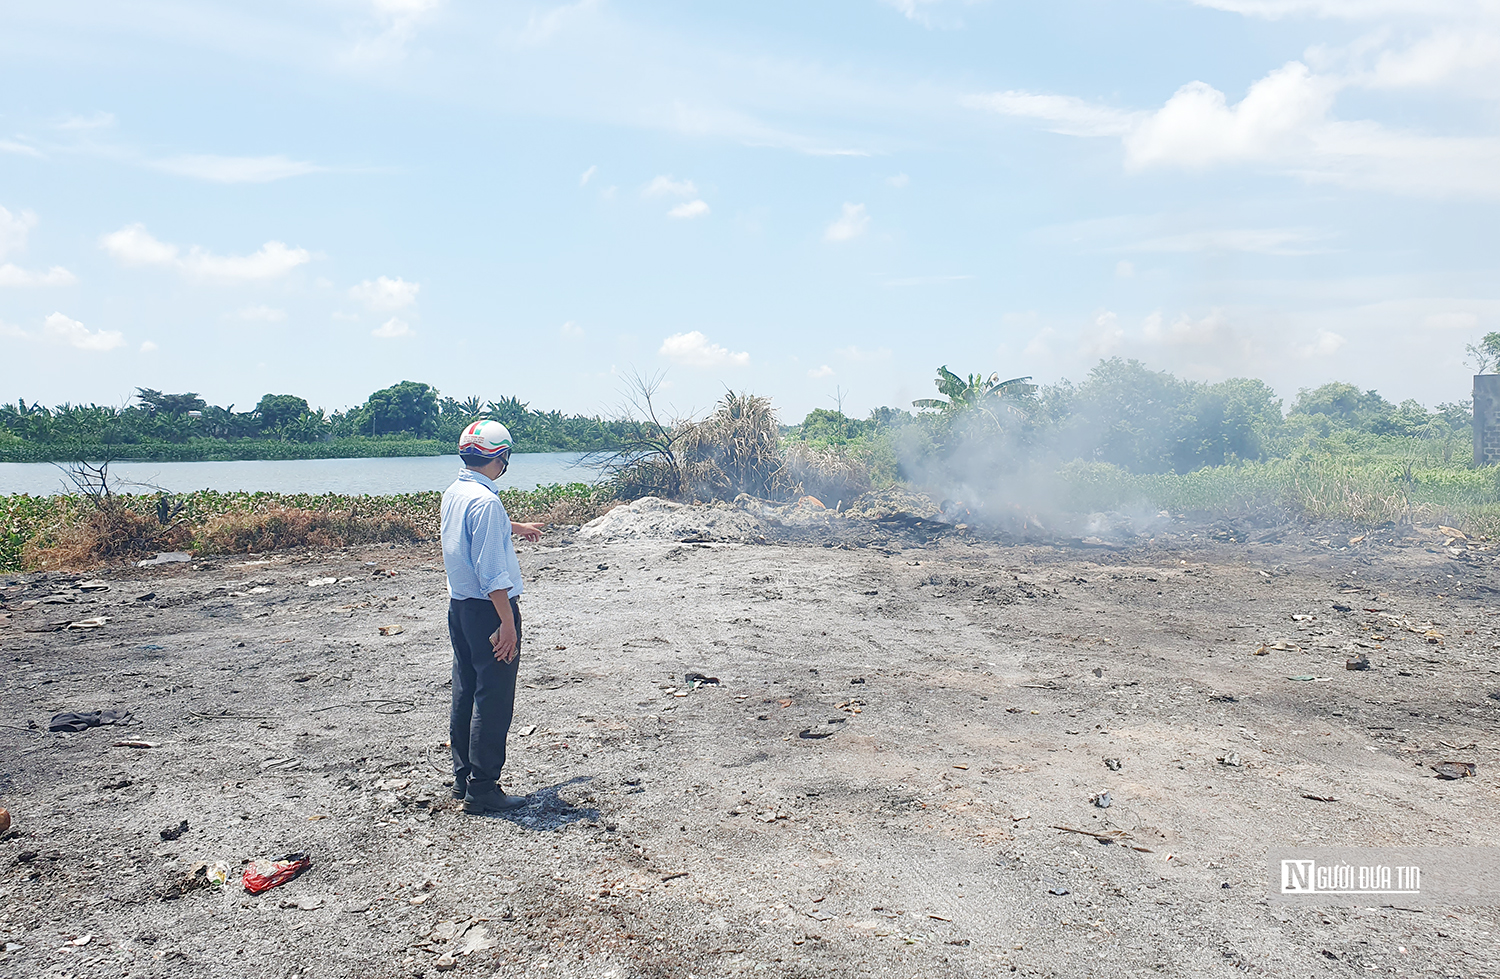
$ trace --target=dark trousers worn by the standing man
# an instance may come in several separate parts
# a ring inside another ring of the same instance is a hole
[[[494,792],[506,766],[506,735],[516,712],[516,670],[520,666],[520,603],[510,600],[516,616],[516,658],[501,663],[489,645],[500,628],[500,613],[488,598],[448,600],[448,639],[453,640],[453,786],[471,793]]]

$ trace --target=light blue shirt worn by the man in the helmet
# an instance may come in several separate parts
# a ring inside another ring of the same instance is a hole
[[[482,472],[464,469],[442,492],[442,570],[450,598],[520,597],[520,564],[510,540],[510,514],[500,489]]]

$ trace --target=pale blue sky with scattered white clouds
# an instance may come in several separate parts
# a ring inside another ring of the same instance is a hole
[[[1468,397],[1500,0],[0,0],[0,400]]]

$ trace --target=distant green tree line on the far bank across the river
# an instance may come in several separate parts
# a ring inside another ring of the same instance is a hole
[[[16,400],[0,405],[0,462],[140,459],[360,459],[441,456],[477,418],[510,429],[516,451],[608,451],[628,426],[591,415],[536,411],[514,397],[454,400],[416,381],[375,391],[348,412],[309,408],[296,394],[266,394],[250,411],[208,405],[196,393],[136,388],[124,408]]]

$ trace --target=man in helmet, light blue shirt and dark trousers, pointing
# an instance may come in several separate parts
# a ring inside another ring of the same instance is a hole
[[[500,787],[520,666],[520,565],[512,535],[542,540],[534,523],[512,523],[495,486],[510,465],[510,432],[476,421],[459,436],[464,469],[442,493],[442,567],[453,640],[453,798],[474,816],[526,805]]]

